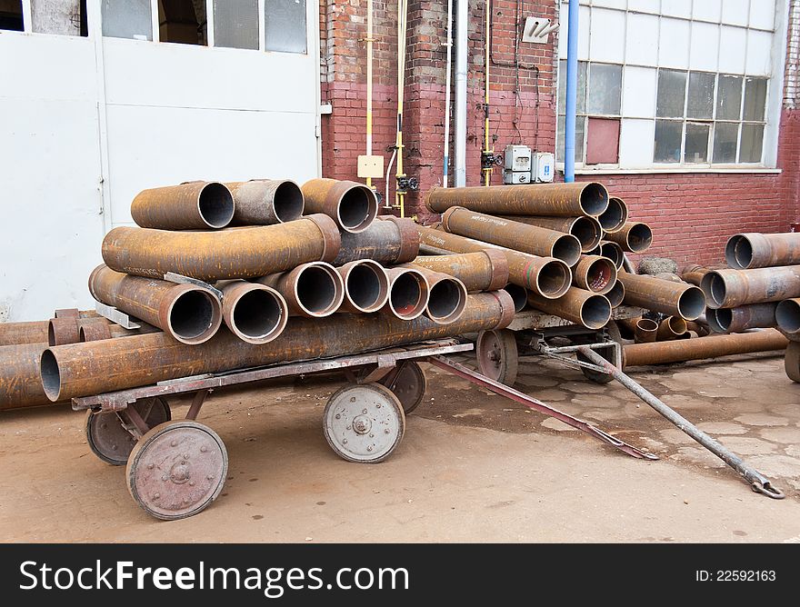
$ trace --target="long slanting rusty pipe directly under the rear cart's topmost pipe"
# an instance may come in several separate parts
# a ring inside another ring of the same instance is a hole
[[[450,234],[475,238],[514,251],[540,257],[555,257],[569,266],[577,264],[581,256],[581,244],[572,234],[521,224],[460,206],[453,206],[445,211],[442,215],[442,227]]]

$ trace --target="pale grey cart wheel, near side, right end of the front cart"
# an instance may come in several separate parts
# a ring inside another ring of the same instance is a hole
[[[380,383],[345,386],[325,405],[323,433],[348,462],[383,462],[403,439],[403,405]]]

